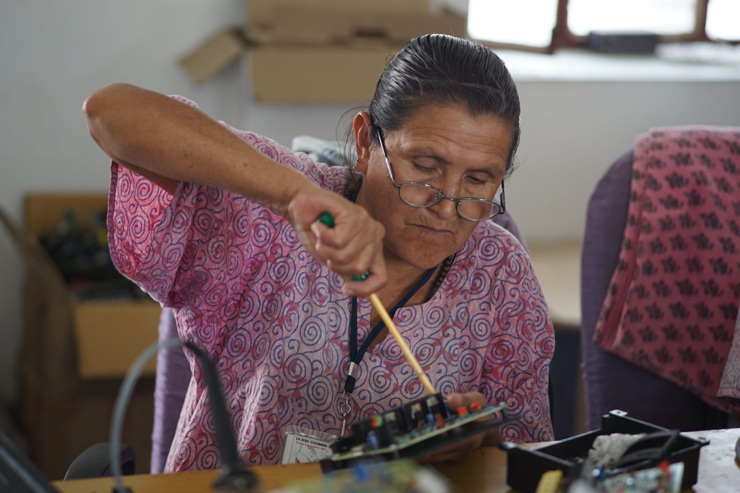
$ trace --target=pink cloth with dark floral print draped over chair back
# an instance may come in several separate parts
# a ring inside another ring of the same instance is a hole
[[[619,265],[593,340],[740,415],[740,349],[730,353],[739,302],[740,129],[638,137]]]

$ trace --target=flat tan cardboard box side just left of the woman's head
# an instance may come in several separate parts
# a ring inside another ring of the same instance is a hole
[[[368,101],[388,48],[260,47],[250,50],[252,92],[269,103]]]

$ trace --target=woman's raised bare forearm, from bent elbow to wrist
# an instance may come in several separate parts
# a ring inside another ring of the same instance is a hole
[[[87,128],[121,166],[172,192],[178,181],[232,191],[285,215],[313,184],[249,146],[198,109],[129,84],[99,89],[84,103]]]

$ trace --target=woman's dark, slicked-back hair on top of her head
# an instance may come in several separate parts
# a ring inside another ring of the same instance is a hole
[[[489,48],[462,38],[428,34],[411,39],[383,69],[368,113],[383,132],[400,129],[413,112],[430,104],[462,104],[471,115],[494,116],[511,128],[506,172],[519,146],[519,95],[503,61]]]

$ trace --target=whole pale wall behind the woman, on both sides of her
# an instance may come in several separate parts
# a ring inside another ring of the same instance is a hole
[[[203,111],[289,145],[334,138],[351,105],[249,104],[235,65],[202,87],[177,59],[240,24],[240,0],[1,0],[0,206],[21,220],[27,191],[107,189],[107,157],[81,115],[95,89],[125,81],[185,95]],[[593,183],[650,126],[740,126],[740,84],[522,82],[522,166],[507,202],[530,242],[577,238]],[[15,395],[21,268],[0,238],[0,399]]]

